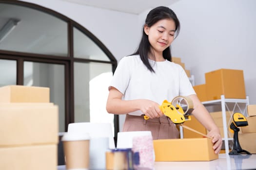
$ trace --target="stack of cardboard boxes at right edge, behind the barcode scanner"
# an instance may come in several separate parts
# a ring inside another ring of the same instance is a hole
[[[256,105],[247,105],[248,126],[242,127],[242,133],[238,134],[241,148],[256,153]]]

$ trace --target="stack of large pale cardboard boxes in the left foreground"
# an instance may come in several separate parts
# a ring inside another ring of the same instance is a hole
[[[58,106],[49,88],[0,87],[0,170],[56,170]]]

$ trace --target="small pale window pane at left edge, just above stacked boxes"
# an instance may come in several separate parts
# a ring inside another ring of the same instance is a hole
[[[15,60],[0,59],[0,86],[16,85],[16,65]]]

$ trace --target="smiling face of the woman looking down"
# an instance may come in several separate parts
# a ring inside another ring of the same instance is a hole
[[[144,32],[148,35],[149,43],[155,54],[162,55],[174,40],[175,22],[171,19],[162,19],[151,27],[144,26]]]

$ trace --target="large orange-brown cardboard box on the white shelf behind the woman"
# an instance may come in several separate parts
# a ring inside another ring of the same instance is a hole
[[[243,70],[218,69],[205,73],[207,100],[225,98],[245,99]]]

